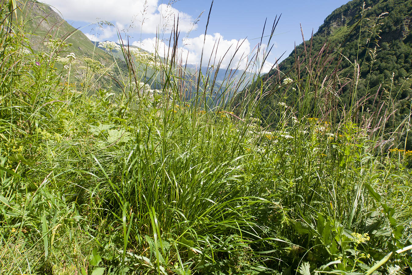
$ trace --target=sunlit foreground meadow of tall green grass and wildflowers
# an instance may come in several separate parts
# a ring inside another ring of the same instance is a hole
[[[199,81],[189,104],[178,70],[148,63],[155,91],[131,55],[116,94],[96,59],[61,66],[0,19],[1,274],[410,273],[412,152],[379,120],[306,100],[264,128],[255,94],[209,110]]]

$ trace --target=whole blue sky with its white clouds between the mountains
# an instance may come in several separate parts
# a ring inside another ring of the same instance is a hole
[[[178,14],[180,19],[180,56],[187,63],[199,63],[203,47],[204,31],[208,17],[210,1],[178,0],[170,2],[162,0],[42,0],[57,9],[68,23],[82,31],[89,38],[98,41],[117,41],[116,29],[122,35],[130,36],[133,45],[149,51],[166,52],[169,42],[170,26]],[[219,59],[229,48],[229,54],[239,47],[238,41],[243,41],[237,51],[235,63],[240,68],[248,63],[244,57],[253,52],[260,42],[263,25],[267,18],[268,29],[272,26],[276,15],[281,14],[279,24],[272,38],[274,44],[271,54],[265,64],[265,71],[286,51],[286,58],[295,45],[302,42],[300,24],[305,39],[310,38],[323,23],[323,20],[334,9],[344,5],[347,0],[215,0],[206,36],[205,54],[217,56]],[[193,24],[197,21],[197,24]],[[98,20],[107,20],[116,27],[96,24]],[[142,24],[143,22],[143,24]],[[89,25],[91,24],[91,25]],[[160,33],[156,39],[156,31]],[[266,33],[267,34],[267,33]],[[258,39],[257,39],[258,38]],[[219,49],[213,48],[220,41]],[[263,40],[267,43],[267,38]],[[157,45],[157,47],[155,47]],[[162,54],[161,54],[162,55]],[[261,53],[260,53],[261,55]],[[227,65],[229,57],[223,59]]]

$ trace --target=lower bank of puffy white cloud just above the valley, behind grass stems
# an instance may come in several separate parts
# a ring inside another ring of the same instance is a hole
[[[148,52],[157,52],[160,56],[167,56],[168,51],[171,52],[169,44],[157,38],[147,38],[141,42],[135,41],[133,45]],[[263,47],[265,46],[263,45]],[[256,47],[251,47],[247,39],[225,40],[220,33],[206,35],[206,38],[203,34],[195,38],[185,38],[183,44],[178,47],[178,59],[182,60],[182,63],[199,65],[202,49],[204,56],[202,66],[206,66],[211,59],[211,65],[217,65],[220,62],[221,68],[251,70],[253,65],[253,69],[260,66],[258,62],[263,60],[263,51],[257,52]],[[256,54],[258,54],[257,59],[255,59]],[[257,63],[253,63],[255,60]],[[267,61],[263,66],[263,72],[268,72],[272,65],[273,63]]]

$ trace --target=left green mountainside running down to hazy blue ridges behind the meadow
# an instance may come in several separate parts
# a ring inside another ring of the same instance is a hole
[[[118,59],[119,68],[122,72],[119,72],[117,66],[115,66],[112,72],[114,75],[112,76],[120,79],[120,73],[127,74],[122,51],[106,51],[103,47],[99,46],[99,41],[91,41],[86,35],[84,35],[84,33],[82,33],[82,31],[74,28],[68,24],[67,21],[63,20],[57,12],[49,7],[49,5],[37,1],[26,2],[24,0],[19,0],[19,7],[22,10],[22,12],[19,12],[19,16],[24,16],[26,20],[26,32],[28,33],[28,39],[31,41],[32,48],[35,51],[46,50],[44,42],[47,42],[49,39],[64,40],[66,43],[70,44],[70,46],[66,48],[64,52],[61,52],[61,56],[64,57],[65,54],[73,52],[76,57],[93,57],[106,66],[110,66],[113,63],[114,56]],[[121,46],[119,43],[115,43]],[[130,45],[130,47],[138,48],[133,45]],[[143,49],[138,49],[140,52],[147,52]],[[162,62],[164,62],[164,60]],[[185,80],[189,83],[190,87],[193,87],[193,85],[197,83],[195,79],[198,76],[198,66],[194,64],[183,64],[182,69],[185,70],[185,74],[183,74],[185,75]],[[204,75],[209,73],[214,76],[215,69],[203,66],[201,68],[201,73]],[[221,88],[218,87],[220,85],[225,86],[226,82],[239,81],[239,79],[243,78],[243,73],[245,73],[246,79],[253,75],[252,73],[247,73],[243,70],[226,70],[225,68],[220,68],[219,72],[216,74],[215,92],[218,94],[219,90],[221,90]],[[231,76],[230,79],[228,79],[229,75]],[[153,79],[146,79],[145,75],[140,75],[139,77],[142,78],[142,81],[149,83],[153,89],[160,89],[162,86],[160,79],[153,81]],[[111,82],[109,78],[102,78],[101,82],[102,87],[111,85],[115,92],[121,92],[118,83]],[[201,85],[204,84],[203,80],[201,80],[200,83]],[[240,85],[240,89],[243,89],[246,84],[247,82]],[[189,96],[189,98],[191,98],[191,96]]]

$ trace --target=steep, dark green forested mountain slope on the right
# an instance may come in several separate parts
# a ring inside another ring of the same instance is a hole
[[[328,101],[329,108],[355,106],[359,118],[366,110],[386,114],[386,126],[391,128],[407,121],[412,96],[411,31],[411,0],[353,0],[335,9],[311,40],[279,64],[281,72],[274,69],[262,78],[264,90],[272,91],[263,100],[262,119],[276,127],[278,102],[296,108],[298,116],[300,101],[310,93],[313,109],[314,103],[325,101],[320,91],[330,84],[336,98],[334,103]],[[283,73],[295,82],[284,85]],[[257,87],[262,86],[249,88]]]

